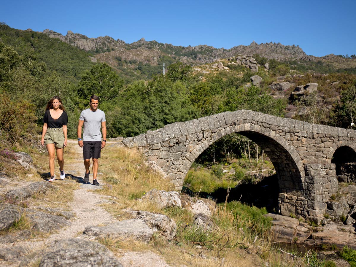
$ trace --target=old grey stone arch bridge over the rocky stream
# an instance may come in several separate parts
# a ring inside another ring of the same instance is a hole
[[[124,138],[140,147],[181,189],[199,155],[225,135],[240,133],[257,143],[276,169],[282,215],[320,222],[326,202],[337,192],[337,168],[356,162],[356,131],[310,124],[250,110],[223,112]]]

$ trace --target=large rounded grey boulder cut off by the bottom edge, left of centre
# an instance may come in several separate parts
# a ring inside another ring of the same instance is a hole
[[[122,267],[119,260],[103,245],[78,238],[56,240],[49,244],[47,249],[30,256],[23,260],[20,266],[37,263],[41,267]]]

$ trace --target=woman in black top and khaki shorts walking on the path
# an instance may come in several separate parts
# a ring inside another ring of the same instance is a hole
[[[54,181],[54,154],[57,153],[59,172],[62,180],[66,178],[64,173],[63,148],[67,146],[67,112],[64,111],[61,98],[53,96],[47,103],[45,116],[43,117],[43,130],[41,144],[46,145],[48,151],[48,165],[51,178]]]

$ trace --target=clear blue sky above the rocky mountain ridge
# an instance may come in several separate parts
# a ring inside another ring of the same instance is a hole
[[[356,54],[356,1],[2,1],[0,21],[13,28],[144,37],[181,46],[280,42],[314,56]]]

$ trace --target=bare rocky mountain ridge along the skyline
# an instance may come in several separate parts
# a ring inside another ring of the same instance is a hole
[[[268,59],[301,59],[306,58],[307,54],[299,46],[284,46],[281,43],[261,43],[253,41],[250,45],[235,46],[230,49],[215,48],[207,45],[199,46],[173,46],[167,43],[158,43],[156,41],[146,41],[141,38],[137,42],[125,43],[118,39],[114,40],[109,36],[88,38],[79,33],[68,31],[66,36],[60,33],[45,30],[46,35],[52,38],[69,43],[70,45],[84,49],[85,51],[97,54],[96,58],[100,61],[110,61],[109,58],[121,57],[124,60],[137,60],[143,63],[157,63],[157,59],[162,56],[168,56],[174,60],[179,60],[188,64],[205,64],[213,62],[216,58],[229,58],[237,54],[260,54]],[[109,55],[100,55],[109,52]],[[104,59],[105,58],[105,59]]]

